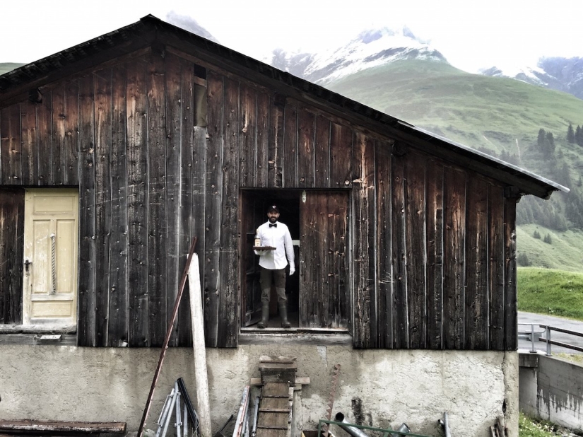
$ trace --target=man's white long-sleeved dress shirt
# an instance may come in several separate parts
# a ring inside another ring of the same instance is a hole
[[[275,247],[276,250],[255,251],[259,257],[259,265],[265,269],[278,270],[285,268],[290,261],[290,267],[295,268],[293,244],[288,226],[277,221],[277,226],[269,226],[271,223],[263,223],[257,228],[257,238],[261,240],[261,246]],[[287,255],[287,260],[285,259]]]

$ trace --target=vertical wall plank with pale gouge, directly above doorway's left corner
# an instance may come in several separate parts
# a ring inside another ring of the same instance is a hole
[[[241,84],[240,136],[239,185],[254,187],[257,177],[257,91],[245,84]]]

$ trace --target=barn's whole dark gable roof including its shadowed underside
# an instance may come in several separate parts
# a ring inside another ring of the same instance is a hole
[[[408,146],[516,187],[509,195],[534,194],[548,199],[553,191],[569,192],[567,187],[545,177],[415,127],[151,15],[1,75],[0,107],[23,100],[29,91],[61,77],[76,74],[145,47],[160,45],[179,47],[184,52],[192,52],[192,49],[195,49],[196,57],[209,63],[247,76],[250,74],[283,90],[284,95],[309,100],[310,103],[324,107],[336,115],[349,117],[373,132],[386,134]]]

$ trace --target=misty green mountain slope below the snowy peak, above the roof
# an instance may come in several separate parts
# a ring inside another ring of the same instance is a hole
[[[473,148],[517,156],[538,129],[556,135],[583,123],[583,100],[572,95],[443,62],[392,62],[326,87]]]

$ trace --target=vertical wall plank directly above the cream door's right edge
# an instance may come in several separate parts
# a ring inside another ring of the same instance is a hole
[[[79,83],[66,83],[65,89],[65,136],[61,151],[62,181],[65,185],[78,185],[79,161]]]

